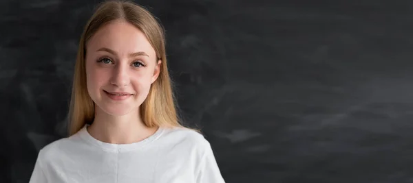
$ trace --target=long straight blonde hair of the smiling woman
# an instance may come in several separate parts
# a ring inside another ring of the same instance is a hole
[[[98,5],[87,22],[79,41],[70,100],[69,136],[94,120],[94,101],[89,97],[86,86],[85,45],[100,27],[118,19],[140,29],[155,49],[158,60],[162,60],[158,79],[153,82],[147,99],[140,106],[142,121],[148,127],[183,127],[176,112],[176,102],[167,69],[165,30],[162,25],[151,12],[136,3],[104,1]]]

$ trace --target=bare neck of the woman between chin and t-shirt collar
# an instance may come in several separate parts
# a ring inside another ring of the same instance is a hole
[[[91,136],[105,143],[137,143],[151,136],[158,129],[158,127],[147,127],[142,122],[139,112],[115,117],[99,108],[95,110],[94,121],[87,127],[87,131]]]

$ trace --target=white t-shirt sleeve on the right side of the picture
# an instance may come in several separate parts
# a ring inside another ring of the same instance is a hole
[[[215,160],[211,145],[207,143],[204,156],[200,161],[196,183],[224,183],[220,169]]]

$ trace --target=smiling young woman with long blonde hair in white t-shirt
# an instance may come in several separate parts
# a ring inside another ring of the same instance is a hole
[[[39,151],[36,182],[224,182],[209,142],[178,123],[161,25],[101,3],[78,47],[70,136]]]

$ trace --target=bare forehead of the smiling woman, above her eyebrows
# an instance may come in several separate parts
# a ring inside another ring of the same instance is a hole
[[[145,51],[150,58],[155,58],[156,53],[140,29],[125,21],[112,21],[98,31],[87,42],[87,51],[94,52],[102,47],[107,47],[127,56],[129,53]]]

